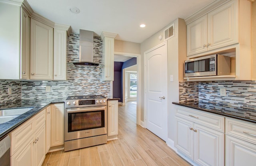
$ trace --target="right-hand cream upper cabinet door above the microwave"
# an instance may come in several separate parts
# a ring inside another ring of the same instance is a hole
[[[238,1],[208,13],[208,50],[238,43]]]

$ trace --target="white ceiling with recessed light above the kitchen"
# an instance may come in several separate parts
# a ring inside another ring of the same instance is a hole
[[[118,34],[115,39],[142,43],[176,18],[187,18],[214,0],[27,0],[34,12],[49,20],[100,36],[102,31]],[[80,9],[79,14],[70,8]],[[146,28],[139,25],[145,23]]]

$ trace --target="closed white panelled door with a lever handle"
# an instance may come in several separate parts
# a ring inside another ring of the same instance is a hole
[[[167,43],[144,53],[146,128],[167,140]]]

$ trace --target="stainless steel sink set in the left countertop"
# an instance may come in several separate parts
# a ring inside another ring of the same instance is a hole
[[[27,111],[29,111],[31,109],[33,109],[33,107],[0,110],[0,124],[8,122],[8,121],[18,117],[19,115],[26,113]]]

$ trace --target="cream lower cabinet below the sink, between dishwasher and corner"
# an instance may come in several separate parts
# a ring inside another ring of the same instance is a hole
[[[45,109],[10,133],[11,165],[41,166],[45,158]]]

